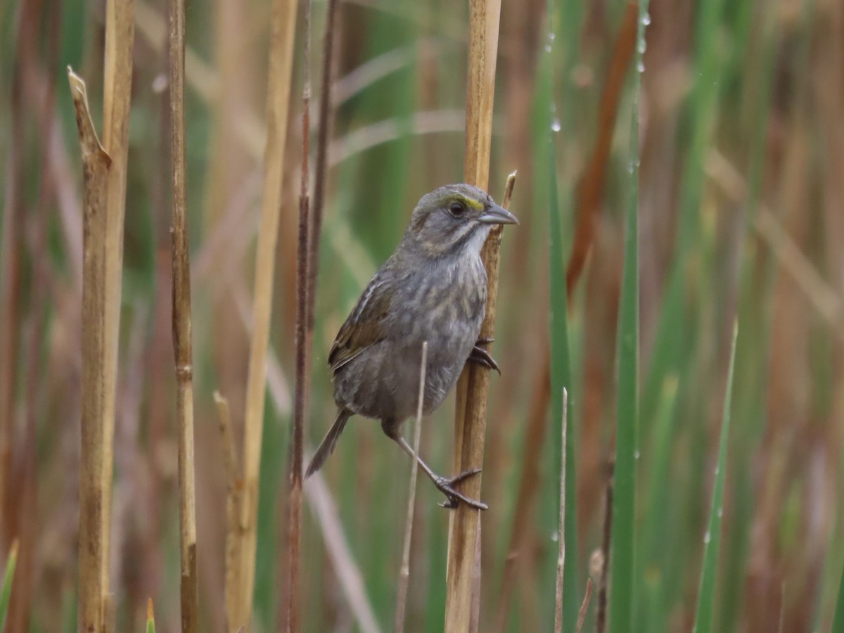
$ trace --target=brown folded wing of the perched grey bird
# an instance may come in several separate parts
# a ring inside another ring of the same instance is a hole
[[[331,371],[338,371],[355,356],[385,338],[381,322],[390,310],[391,282],[391,276],[379,272],[366,286],[328,352]]]

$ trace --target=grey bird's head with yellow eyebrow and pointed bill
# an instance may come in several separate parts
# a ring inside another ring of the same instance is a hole
[[[480,252],[493,225],[517,225],[506,208],[487,192],[467,184],[446,185],[426,193],[410,219],[405,242],[430,257]]]

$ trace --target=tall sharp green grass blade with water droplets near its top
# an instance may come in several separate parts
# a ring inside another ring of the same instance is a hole
[[[630,116],[630,174],[625,227],[625,258],[619,308],[619,391],[615,432],[613,525],[609,550],[609,627],[628,631],[635,621],[636,459],[639,407],[639,93],[645,29],[650,21],[647,0],[639,4],[633,104]]]

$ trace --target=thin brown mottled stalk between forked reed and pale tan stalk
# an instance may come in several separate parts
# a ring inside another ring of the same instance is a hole
[[[197,633],[197,500],[193,459],[193,354],[191,263],[187,242],[185,165],[185,3],[168,3],[170,71],[170,165],[173,196],[173,351],[176,362],[176,427],[179,452],[181,630]]]

